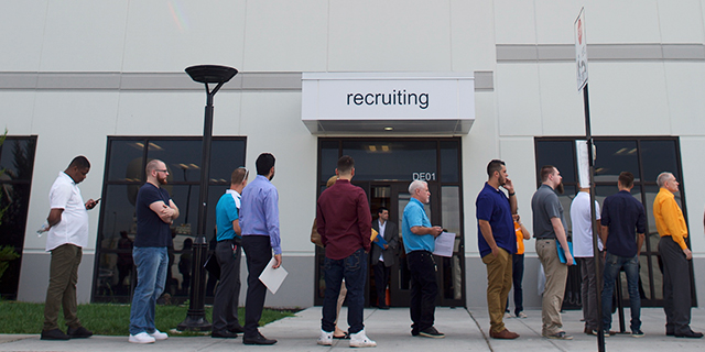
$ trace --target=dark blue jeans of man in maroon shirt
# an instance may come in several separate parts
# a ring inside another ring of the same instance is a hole
[[[340,284],[345,278],[348,289],[348,332],[358,333],[365,329],[365,282],[367,280],[367,254],[364,249],[341,260],[325,258],[326,293],[323,299],[323,319],[321,329],[333,332],[335,330],[336,308]]]

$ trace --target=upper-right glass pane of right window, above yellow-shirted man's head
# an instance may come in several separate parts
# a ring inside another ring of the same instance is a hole
[[[662,172],[670,172],[681,180],[675,141],[641,141],[639,146],[643,177],[647,182],[655,183]]]

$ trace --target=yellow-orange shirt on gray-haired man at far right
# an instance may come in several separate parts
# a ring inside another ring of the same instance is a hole
[[[687,249],[685,238],[687,238],[687,226],[683,211],[675,202],[675,196],[661,188],[653,200],[653,217],[657,220],[657,230],[661,237],[670,235],[673,242],[677,243],[682,250]]]

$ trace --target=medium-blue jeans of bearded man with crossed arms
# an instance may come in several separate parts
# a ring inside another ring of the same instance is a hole
[[[156,299],[164,292],[169,255],[166,248],[135,246],[132,257],[137,265],[137,287],[130,309],[130,334],[154,332]]]

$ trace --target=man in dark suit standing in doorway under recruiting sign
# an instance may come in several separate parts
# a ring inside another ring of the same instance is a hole
[[[372,229],[379,234],[372,245],[372,267],[375,268],[375,287],[377,288],[377,307],[389,309],[387,305],[387,284],[391,266],[397,262],[397,246],[399,245],[399,230],[397,224],[389,221],[389,209],[380,207],[377,210],[377,221],[372,220]],[[380,238],[386,244],[380,245]]]

